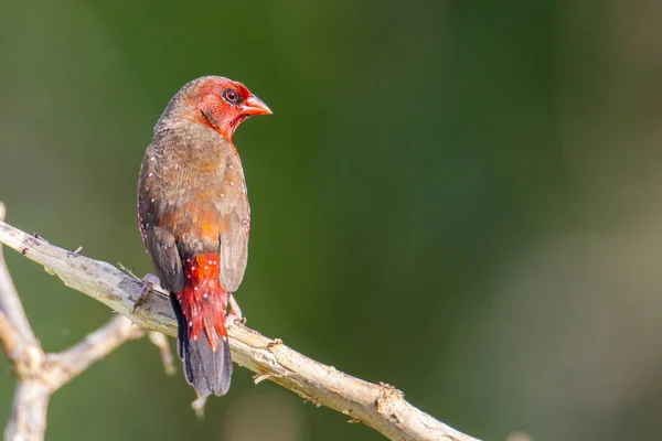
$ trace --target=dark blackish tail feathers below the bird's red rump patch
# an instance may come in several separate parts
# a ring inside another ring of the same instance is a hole
[[[196,340],[190,340],[186,319],[174,294],[170,294],[170,302],[177,316],[178,353],[184,363],[186,381],[195,388],[199,397],[227,394],[232,376],[227,338],[217,338],[216,351],[212,351],[205,332],[200,333]]]

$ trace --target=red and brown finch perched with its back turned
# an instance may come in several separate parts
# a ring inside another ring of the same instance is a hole
[[[185,84],[159,118],[138,178],[138,220],[178,322],[178,355],[199,399],[229,389],[227,305],[248,257],[250,207],[237,127],[271,110],[242,83]]]

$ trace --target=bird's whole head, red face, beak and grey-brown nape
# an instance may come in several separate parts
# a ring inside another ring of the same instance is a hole
[[[193,121],[232,140],[236,128],[253,115],[271,110],[242,83],[222,76],[204,76],[184,85],[172,98],[157,130],[163,126]]]

